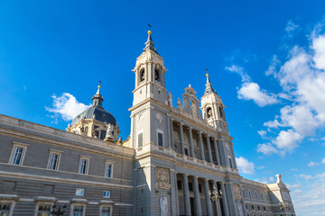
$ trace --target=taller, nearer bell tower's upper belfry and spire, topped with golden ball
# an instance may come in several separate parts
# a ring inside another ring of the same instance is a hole
[[[163,58],[154,48],[152,31],[148,31],[143,53],[136,58],[135,90],[133,105],[141,103],[147,98],[153,98],[160,103],[167,103],[167,90],[165,89],[165,72]]]

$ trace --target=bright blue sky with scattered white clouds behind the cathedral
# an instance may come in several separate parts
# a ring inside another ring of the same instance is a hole
[[[135,59],[147,26],[174,103],[227,106],[240,174],[275,174],[298,215],[325,215],[324,1],[0,1],[0,113],[64,130],[96,93],[129,135]],[[176,105],[176,104],[174,104]]]

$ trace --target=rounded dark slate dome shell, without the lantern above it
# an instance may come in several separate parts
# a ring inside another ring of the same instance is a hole
[[[94,115],[95,120],[105,122],[107,124],[110,123],[116,126],[116,119],[114,118],[114,116],[110,112],[107,112],[103,108],[99,108],[97,106],[91,106],[84,112],[79,113],[79,115],[72,121],[72,125],[78,123],[81,118],[92,119]]]

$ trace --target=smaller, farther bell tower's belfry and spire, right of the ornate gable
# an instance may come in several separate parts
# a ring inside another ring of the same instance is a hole
[[[209,80],[209,74],[207,76],[206,89],[201,97],[201,111],[203,114],[203,120],[207,121],[210,126],[214,127],[220,132],[228,133],[228,123],[226,121],[225,105],[222,103],[221,97],[213,89]]]

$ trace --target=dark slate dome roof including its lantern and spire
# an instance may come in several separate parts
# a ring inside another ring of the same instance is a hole
[[[104,101],[104,99],[103,96],[100,94],[100,82],[98,85],[98,91],[92,99],[92,106],[90,106],[84,112],[79,113],[79,115],[72,121],[72,125],[78,123],[81,119],[94,118],[97,121],[105,122],[107,124],[110,123],[116,126],[116,119],[114,118],[114,116],[110,112],[104,110],[104,108],[102,107],[102,102]]]

